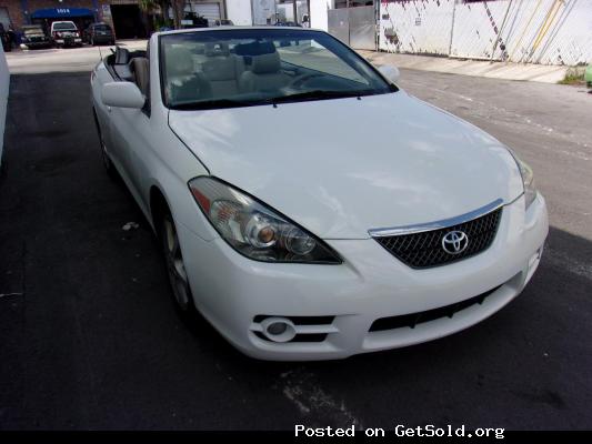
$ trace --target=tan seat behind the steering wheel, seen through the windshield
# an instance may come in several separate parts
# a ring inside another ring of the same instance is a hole
[[[253,56],[251,70],[242,73],[241,91],[278,91],[290,84],[290,77],[282,72],[280,54],[274,51]]]

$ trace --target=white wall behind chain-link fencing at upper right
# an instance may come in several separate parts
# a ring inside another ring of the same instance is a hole
[[[379,32],[390,52],[573,65],[592,61],[592,0],[383,0]]]

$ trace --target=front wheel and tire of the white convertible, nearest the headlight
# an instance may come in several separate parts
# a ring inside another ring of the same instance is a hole
[[[193,295],[189,286],[174,220],[168,209],[162,212],[159,238],[174,304],[183,317],[193,316],[195,313]]]

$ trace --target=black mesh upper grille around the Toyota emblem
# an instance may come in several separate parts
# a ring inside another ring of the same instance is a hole
[[[413,269],[428,269],[456,262],[485,251],[495,238],[501,214],[500,208],[472,221],[445,229],[374,239],[407,265]],[[442,238],[451,231],[462,231],[466,234],[469,243],[462,253],[450,254],[443,249]]]

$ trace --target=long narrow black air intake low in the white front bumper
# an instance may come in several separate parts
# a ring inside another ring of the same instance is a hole
[[[402,327],[414,329],[418,324],[435,321],[441,317],[448,316],[452,319],[455,313],[466,310],[475,304],[482,304],[483,301],[493,292],[495,292],[500,286],[496,286],[495,289],[492,289],[485,293],[481,293],[478,296],[458,302],[455,304],[450,304],[424,312],[403,314],[400,316],[381,317],[372,323],[370,332],[383,332],[385,330],[394,330]]]

